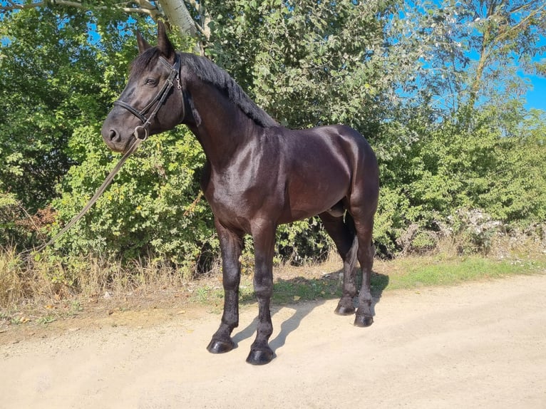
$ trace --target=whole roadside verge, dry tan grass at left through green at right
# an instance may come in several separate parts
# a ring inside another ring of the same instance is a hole
[[[222,277],[218,269],[188,281],[157,262],[145,266],[135,262],[122,268],[104,260],[82,259],[75,265],[80,269],[79,276],[58,262],[21,259],[16,252],[0,249],[0,326],[71,319],[88,314],[96,304],[108,304],[110,311],[125,311],[150,305],[179,308],[180,304],[190,303],[206,306],[215,313],[222,311]],[[372,292],[380,296],[383,291],[545,272],[545,252],[503,259],[436,254],[391,261],[377,259],[371,286]],[[272,304],[337,299],[341,296],[341,284],[341,260],[337,256],[322,264],[277,266]],[[255,302],[252,266],[243,270],[239,300],[242,304]]]

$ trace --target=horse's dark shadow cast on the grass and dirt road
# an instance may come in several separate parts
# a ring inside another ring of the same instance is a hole
[[[321,291],[319,296],[316,298],[306,296],[302,297],[298,294],[301,293],[301,286],[302,285],[310,285],[311,287],[319,287],[324,288],[324,280],[328,282],[326,284],[326,288],[329,288],[330,286],[335,286],[336,291],[330,291],[328,293]],[[287,341],[288,336],[290,333],[292,333],[294,330],[296,330],[302,321],[305,319],[307,315],[311,313],[316,307],[323,305],[326,301],[329,301],[331,299],[339,299],[341,297],[341,283],[342,283],[342,270],[335,271],[331,274],[325,274],[321,279],[306,279],[304,277],[295,277],[293,279],[283,280],[278,279],[274,284],[274,294],[275,294],[275,288],[282,289],[284,291],[283,297],[280,300],[272,299],[272,306],[271,306],[271,314],[272,317],[275,316],[275,314],[278,314],[279,311],[284,309],[285,307],[289,307],[289,309],[294,310],[294,313],[289,316],[289,318],[285,319],[281,323],[281,331],[272,338],[269,341],[269,346],[272,348],[273,351],[277,351],[277,349],[282,348],[284,344]],[[371,276],[371,294],[372,294],[372,302],[371,302],[371,313],[373,316],[376,315],[376,304],[381,301],[381,296],[383,294],[383,291],[388,286],[388,276],[386,274],[379,274],[372,272]],[[288,289],[288,290],[287,290]],[[246,296],[241,301],[242,304],[250,304],[254,301],[252,299],[253,296]],[[300,298],[301,297],[301,298]],[[292,299],[292,302],[286,302],[286,299]],[[299,301],[294,301],[295,299],[298,299]],[[302,302],[303,301],[303,302]],[[358,304],[358,297],[355,297],[354,299],[355,307]],[[334,314],[334,311],[331,311],[331,314]],[[238,331],[235,333],[235,335],[232,337],[232,340],[235,342],[235,345],[237,345],[239,342],[251,338],[256,333],[256,327],[258,323],[258,318],[254,318],[251,323],[249,323],[245,328],[243,328],[241,331]]]

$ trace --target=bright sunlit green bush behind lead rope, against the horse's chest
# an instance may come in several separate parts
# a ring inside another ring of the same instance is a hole
[[[112,166],[102,140],[96,141],[91,154],[86,135],[80,138],[88,147],[87,159],[71,168],[63,195],[53,201],[67,221],[86,204]],[[150,138],[125,163],[91,212],[57,245],[125,261],[166,257],[184,269],[210,262],[214,257],[210,252],[217,247],[212,217],[205,201],[195,200],[202,162],[202,151],[187,130]]]

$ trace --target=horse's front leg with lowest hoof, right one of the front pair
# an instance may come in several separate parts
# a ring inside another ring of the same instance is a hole
[[[254,293],[258,299],[258,326],[256,339],[250,347],[247,358],[252,365],[264,365],[274,358],[269,348],[269,337],[273,332],[269,304],[273,294],[273,252],[275,231],[274,224],[262,222],[252,229],[254,238]]]

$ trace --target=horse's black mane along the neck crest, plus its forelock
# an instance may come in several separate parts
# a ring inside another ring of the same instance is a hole
[[[147,69],[151,63],[155,63],[160,56],[160,51],[157,47],[148,48],[142,53],[131,66],[131,72],[138,75]],[[199,78],[201,81],[212,84],[220,90],[227,93],[228,98],[235,103],[241,110],[255,123],[264,128],[279,125],[277,121],[271,118],[262,108],[259,108],[247,93],[235,82],[235,80],[212,63],[208,58],[197,56],[191,53],[179,53],[180,66],[186,66]]]

